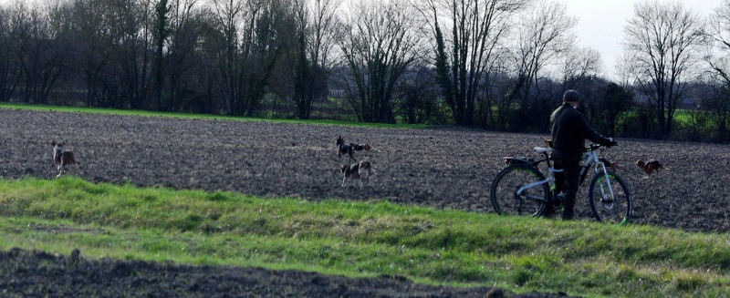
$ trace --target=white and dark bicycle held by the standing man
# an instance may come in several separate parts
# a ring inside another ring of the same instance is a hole
[[[548,140],[546,140],[546,143]],[[592,168],[593,178],[590,180],[590,210],[598,221],[625,224],[631,219],[631,193],[626,183],[615,172],[606,168],[609,161],[599,157],[598,144],[586,147],[580,167],[579,185],[586,180]],[[553,208],[562,208],[558,196],[553,197],[555,186],[553,175],[561,170],[553,169],[550,153],[553,149],[536,147],[543,159],[513,159],[512,164],[497,173],[490,189],[492,207],[500,215],[543,215],[548,204]],[[601,150],[602,151],[602,150]],[[538,169],[542,162],[547,163],[547,178]]]

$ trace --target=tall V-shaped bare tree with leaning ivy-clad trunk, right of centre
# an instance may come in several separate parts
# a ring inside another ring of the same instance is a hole
[[[472,125],[480,85],[504,45],[512,16],[527,0],[424,0],[422,15],[436,43],[443,98],[459,125]]]

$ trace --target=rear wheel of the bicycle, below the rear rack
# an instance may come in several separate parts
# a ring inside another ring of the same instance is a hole
[[[542,214],[550,194],[547,183],[526,187],[530,183],[545,180],[545,176],[528,165],[512,165],[500,171],[492,182],[490,200],[495,212],[500,215]]]

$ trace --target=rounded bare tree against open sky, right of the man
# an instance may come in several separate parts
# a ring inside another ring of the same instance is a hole
[[[672,133],[674,112],[687,91],[700,57],[704,22],[682,2],[646,1],[634,5],[624,27],[625,71],[655,109],[659,134]]]

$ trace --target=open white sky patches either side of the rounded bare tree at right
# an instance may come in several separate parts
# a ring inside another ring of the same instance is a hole
[[[558,0],[566,4],[568,15],[579,18],[575,30],[578,45],[600,52],[605,65],[605,75],[615,78],[614,65],[623,49],[623,26],[633,16],[635,3],[644,0]],[[706,16],[719,7],[722,0],[683,0],[685,8]]]

